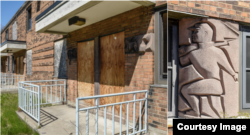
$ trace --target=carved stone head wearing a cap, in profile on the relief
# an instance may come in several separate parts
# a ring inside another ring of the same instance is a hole
[[[194,43],[206,43],[212,41],[213,30],[207,23],[195,24],[190,30],[193,32],[192,41]]]

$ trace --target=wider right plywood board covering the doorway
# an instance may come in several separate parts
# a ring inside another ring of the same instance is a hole
[[[101,37],[100,94],[122,93],[125,88],[124,32]],[[100,104],[124,101],[124,96],[102,98]],[[108,108],[111,111],[111,107]],[[115,106],[119,114],[120,106]],[[125,106],[123,106],[125,112]]]

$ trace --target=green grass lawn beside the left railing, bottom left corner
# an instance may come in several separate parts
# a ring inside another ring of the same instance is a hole
[[[18,94],[0,94],[0,135],[39,135],[19,119]]]

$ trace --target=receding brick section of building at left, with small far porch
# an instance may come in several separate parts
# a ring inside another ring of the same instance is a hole
[[[26,1],[2,29],[0,52],[5,56],[1,55],[1,72],[25,75],[26,80],[58,77],[54,74],[54,41],[63,36],[35,32],[35,18],[53,3]]]

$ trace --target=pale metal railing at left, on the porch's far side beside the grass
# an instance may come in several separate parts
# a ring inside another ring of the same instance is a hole
[[[48,82],[54,82],[54,84],[52,83],[51,85],[48,85],[46,84]],[[57,104],[66,101],[66,80],[21,81],[18,83],[18,91],[20,109],[34,118],[38,122],[39,126],[41,105]],[[63,91],[64,93],[62,94]],[[50,98],[48,98],[49,94]],[[45,99],[43,97],[45,97]]]

